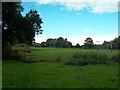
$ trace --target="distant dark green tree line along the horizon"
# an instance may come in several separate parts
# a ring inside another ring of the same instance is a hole
[[[94,44],[92,38],[88,37],[84,41],[84,45],[77,43],[72,45],[67,38],[59,37],[57,39],[48,38],[46,42],[35,43],[34,47],[61,47],[61,48],[83,48],[83,49],[120,49],[120,36],[112,41],[104,41],[102,44]]]

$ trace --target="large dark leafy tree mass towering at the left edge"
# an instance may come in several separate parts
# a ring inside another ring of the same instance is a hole
[[[43,22],[38,12],[36,10],[30,10],[23,17],[21,15],[23,10],[20,2],[2,3],[3,55],[9,52],[11,46],[16,43],[31,45],[35,34],[42,33],[41,24]]]

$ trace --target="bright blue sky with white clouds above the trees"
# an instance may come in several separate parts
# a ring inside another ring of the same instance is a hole
[[[95,44],[118,37],[117,0],[23,0],[24,16],[36,9],[42,18],[43,33],[35,36],[41,43],[48,38],[67,38],[73,45],[91,37]]]

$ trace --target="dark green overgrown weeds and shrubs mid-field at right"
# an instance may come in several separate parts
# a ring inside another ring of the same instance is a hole
[[[97,52],[76,52],[73,54],[73,59],[67,61],[66,65],[88,65],[88,64],[113,64],[118,63],[120,55],[117,53],[109,56],[105,53]]]

